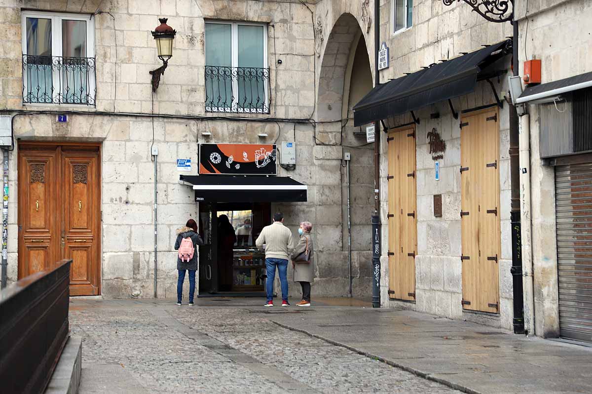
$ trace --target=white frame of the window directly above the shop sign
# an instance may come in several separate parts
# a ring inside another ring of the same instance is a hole
[[[268,27],[266,23],[253,23],[253,22],[231,22],[231,21],[213,21],[213,20],[205,20],[204,23],[211,23],[211,24],[219,24],[219,25],[230,25],[230,67],[235,68],[239,66],[239,25],[243,26],[261,26],[263,27],[263,67],[262,68],[269,68],[268,63],[268,44],[267,44],[267,36],[268,36]],[[205,35],[204,35],[204,56],[205,56]],[[208,65],[208,59],[205,59],[205,65]],[[211,65],[214,66],[214,65]],[[237,80],[232,81],[232,89],[234,92],[239,92],[239,82]],[[263,84],[263,100],[264,102],[269,102],[269,88],[268,84]],[[232,107],[206,107],[205,110],[209,112],[226,112],[226,113],[265,113],[262,109],[258,108],[240,108],[239,107],[239,98],[234,97],[232,102]]]

